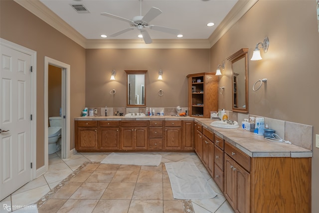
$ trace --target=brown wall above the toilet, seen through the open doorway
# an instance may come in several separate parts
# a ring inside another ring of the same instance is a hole
[[[60,116],[62,69],[49,65],[48,81],[48,116]]]

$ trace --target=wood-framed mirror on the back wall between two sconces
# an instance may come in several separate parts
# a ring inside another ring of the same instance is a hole
[[[127,106],[146,106],[147,70],[125,70],[127,75]]]

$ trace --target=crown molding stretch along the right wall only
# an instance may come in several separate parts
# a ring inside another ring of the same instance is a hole
[[[258,0],[238,0],[208,40],[212,47]]]

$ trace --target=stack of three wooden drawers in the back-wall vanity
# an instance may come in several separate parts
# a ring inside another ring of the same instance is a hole
[[[163,121],[150,121],[149,150],[163,149]]]

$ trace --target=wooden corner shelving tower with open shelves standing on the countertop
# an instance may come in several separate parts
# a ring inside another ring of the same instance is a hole
[[[218,109],[218,76],[214,72],[187,75],[188,115],[210,118],[210,111]]]

